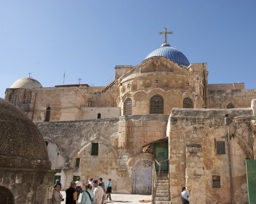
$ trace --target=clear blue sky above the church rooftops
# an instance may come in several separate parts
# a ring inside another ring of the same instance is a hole
[[[136,66],[168,42],[207,62],[209,84],[256,89],[255,0],[0,0],[0,97],[16,80],[43,87],[108,85],[116,65]]]

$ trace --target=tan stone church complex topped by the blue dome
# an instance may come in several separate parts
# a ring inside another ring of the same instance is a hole
[[[191,187],[196,196],[203,189],[196,203],[218,203],[227,194],[223,203],[231,194],[238,203],[248,201],[244,159],[254,158],[255,98],[256,90],[246,90],[243,83],[208,84],[207,63],[190,63],[167,41],[136,66],[116,66],[115,80],[104,87],[42,87],[27,77],[5,93],[6,101],[41,131],[63,188],[76,177],[105,182],[110,177],[116,193],[151,194],[154,144],[168,137],[167,200],[172,203],[180,203],[181,186]],[[216,156],[216,141],[227,149],[225,115],[237,126],[232,130],[237,143],[230,154]],[[143,152],[147,144],[151,149]],[[236,163],[233,193],[227,156]],[[217,190],[212,176],[221,178]]]

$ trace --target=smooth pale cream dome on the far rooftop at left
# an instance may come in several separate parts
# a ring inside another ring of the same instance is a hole
[[[35,78],[31,77],[23,77],[18,79],[16,82],[14,82],[10,89],[33,89],[33,88],[42,88],[42,85],[38,80],[35,80]]]

